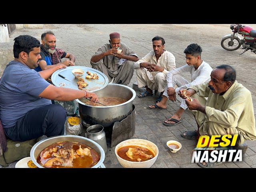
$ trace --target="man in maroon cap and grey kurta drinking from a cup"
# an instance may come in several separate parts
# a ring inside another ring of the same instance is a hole
[[[109,82],[128,85],[134,73],[134,62],[139,60],[138,55],[120,42],[118,32],[110,33],[109,42],[98,49],[90,64],[92,68],[104,73]],[[122,52],[118,53],[118,50]]]

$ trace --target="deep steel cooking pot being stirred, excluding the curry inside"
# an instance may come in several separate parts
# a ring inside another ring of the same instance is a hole
[[[136,96],[132,88],[111,83],[95,93],[98,97],[116,97],[127,101],[114,106],[91,106],[84,103],[88,101],[85,98],[76,99],[79,106],[80,117],[87,124],[100,124],[104,127],[110,127],[113,126],[115,122],[120,122],[131,114],[133,110],[132,101]]]

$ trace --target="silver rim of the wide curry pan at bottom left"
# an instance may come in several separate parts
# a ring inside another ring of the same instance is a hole
[[[105,160],[105,152],[104,152],[102,146],[100,146],[100,145],[99,145],[98,143],[96,143],[95,141],[93,141],[93,140],[91,140],[91,139],[88,139],[88,138],[86,138],[86,137],[78,136],[78,135],[59,135],[59,136],[48,137],[48,138],[46,138],[46,139],[44,139],[44,140],[38,141],[38,142],[37,142],[36,144],[34,144],[34,146],[31,148],[31,150],[30,150],[30,158],[31,158],[32,162],[33,162],[37,167],[39,167],[39,168],[44,168],[43,166],[41,166],[40,164],[38,164],[38,162],[36,162],[36,159],[34,158],[34,151],[35,151],[35,149],[36,149],[40,144],[42,144],[43,142],[46,142],[46,141],[48,141],[48,140],[52,140],[52,139],[54,139],[54,138],[59,138],[59,137],[60,137],[60,138],[63,138],[63,137],[80,138],[80,139],[88,140],[88,141],[92,142],[94,145],[96,145],[96,146],[99,148],[101,154],[99,154],[99,155],[100,155],[100,160],[99,160],[99,162],[96,163],[96,164],[95,164],[94,166],[92,166],[91,168],[98,168],[99,166],[101,166],[101,165],[103,164],[103,162],[104,162],[104,160]],[[65,141],[65,139],[62,139],[62,140],[60,140],[60,141]],[[58,141],[58,142],[60,142],[60,141]],[[50,144],[49,144],[49,145],[50,145]],[[94,150],[95,150],[95,149],[94,149]]]

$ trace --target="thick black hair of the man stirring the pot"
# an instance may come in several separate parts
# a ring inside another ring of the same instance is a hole
[[[19,58],[20,52],[33,51],[35,47],[40,47],[40,41],[30,35],[20,35],[14,38],[13,55],[14,58]]]

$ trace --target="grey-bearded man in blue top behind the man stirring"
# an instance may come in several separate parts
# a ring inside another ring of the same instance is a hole
[[[37,72],[54,67],[55,64],[63,64],[65,66],[74,66],[76,60],[74,54],[65,52],[56,48],[56,37],[52,31],[47,31],[41,35],[42,44],[39,59],[39,66],[35,68]],[[61,62],[62,58],[69,58]]]

